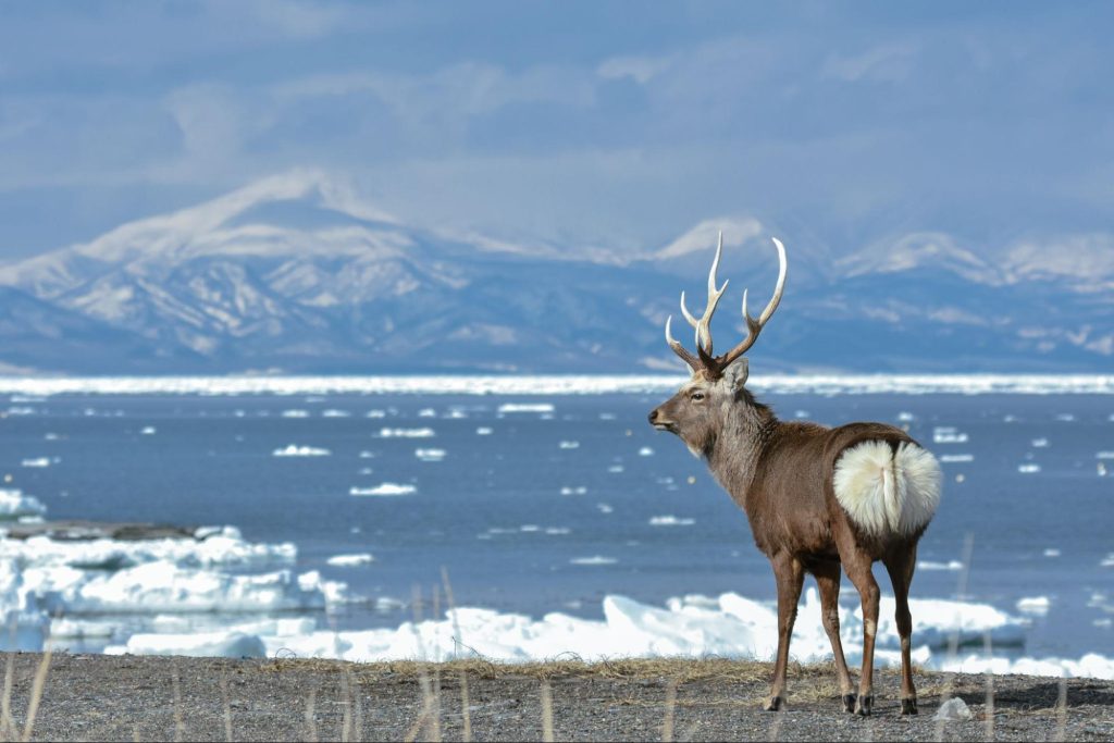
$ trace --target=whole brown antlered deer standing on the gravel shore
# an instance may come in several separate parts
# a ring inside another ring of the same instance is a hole
[[[681,311],[695,329],[696,353],[674,340],[665,321],[665,341],[692,372],[670,400],[649,413],[649,423],[676,434],[703,458],[719,483],[743,509],[758,548],[773,567],[778,586],[778,655],[770,696],[763,708],[785,702],[785,667],[805,574],[817,580],[822,624],[831,641],[843,708],[870,715],[874,703],[873,658],[880,590],[871,567],[881,560],[897,603],[901,641],[901,714],[917,714],[910,659],[912,616],[909,586],[917,565],[917,542],[940,500],[940,466],[906,431],[887,423],[854,422],[825,427],[781,421],[746,389],[746,353],[781,303],[788,261],[773,238],[779,273],[773,297],[758,319],[746,309],[746,336],[715,355],[712,315],[727,289],[717,287],[723,233],[707,278],[707,303],[696,319],[681,293]],[[862,671],[858,695],[848,672],[839,634],[839,590],[846,570],[862,604]]]

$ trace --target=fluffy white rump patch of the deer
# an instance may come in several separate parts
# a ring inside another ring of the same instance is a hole
[[[851,520],[876,536],[911,534],[940,502],[940,466],[917,444],[892,454],[886,441],[864,441],[836,462],[836,498]]]

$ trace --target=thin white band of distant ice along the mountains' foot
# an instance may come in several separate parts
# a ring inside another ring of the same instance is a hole
[[[430,377],[2,377],[0,394],[607,394],[672,393],[682,375]],[[778,394],[1111,394],[1114,374],[770,374],[751,387]]]

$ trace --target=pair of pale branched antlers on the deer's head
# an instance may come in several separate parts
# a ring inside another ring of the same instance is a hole
[[[670,333],[670,323],[673,321],[673,315],[670,315],[668,320],[665,321],[665,340],[668,342],[670,348],[684,359],[688,368],[696,372],[701,369],[706,370],[712,375],[720,375],[726,366],[735,361],[739,356],[743,355],[747,349],[754,345],[754,341],[758,340],[759,333],[762,332],[762,327],[765,326],[766,322],[773,315],[778,305],[781,303],[781,295],[785,291],[785,272],[789,267],[789,262],[785,257],[785,246],[781,244],[781,241],[776,237],[773,238],[773,244],[778,248],[778,284],[773,290],[773,297],[771,297],[769,304],[755,320],[751,316],[750,312],[746,311],[746,295],[747,291],[743,291],[743,319],[746,321],[746,338],[742,340],[739,345],[727,351],[723,355],[713,356],[712,355],[712,314],[715,312],[716,305],[720,303],[720,297],[723,296],[724,291],[727,289],[727,282],[723,282],[723,286],[720,289],[715,287],[716,278],[715,272],[720,267],[720,256],[723,253],[723,232],[720,232],[720,242],[715,248],[715,257],[712,260],[712,270],[707,275],[707,305],[704,307],[704,314],[700,320],[696,320],[688,312],[688,307],[685,306],[685,294],[681,293],[681,311],[684,313],[685,320],[688,324],[696,329],[696,356],[690,353],[681,343],[673,339]]]

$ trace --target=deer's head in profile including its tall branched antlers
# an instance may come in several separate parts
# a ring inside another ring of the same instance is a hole
[[[685,306],[685,294],[681,293],[681,312],[696,332],[695,354],[690,353],[673,339],[673,334],[670,332],[673,316],[671,315],[665,321],[665,340],[670,348],[688,364],[692,378],[681,387],[676,394],[651,411],[649,423],[659,431],[676,433],[690,451],[696,456],[707,452],[715,443],[732,409],[739,401],[751,400],[744,388],[749,369],[743,353],[758,340],[762,327],[778,309],[785,289],[788,265],[785,246],[776,237],[773,239],[773,244],[778,248],[780,262],[778,285],[774,289],[773,297],[758,320],[746,311],[746,292],[743,292],[743,319],[746,321],[746,338],[739,345],[721,355],[714,355],[712,351],[712,314],[720,303],[720,297],[727,289],[726,281],[723,282],[723,286],[716,289],[715,277],[715,271],[720,266],[720,256],[723,253],[722,232],[715,250],[715,258],[712,261],[712,270],[707,276],[707,304],[700,320],[688,312],[688,307]]]

